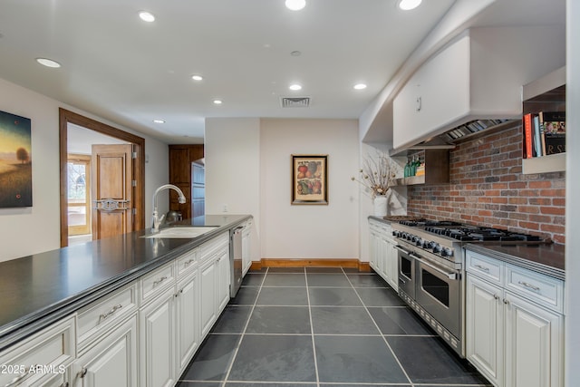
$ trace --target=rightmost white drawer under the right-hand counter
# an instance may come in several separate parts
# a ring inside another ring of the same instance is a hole
[[[507,290],[564,313],[564,282],[523,267],[506,265]]]

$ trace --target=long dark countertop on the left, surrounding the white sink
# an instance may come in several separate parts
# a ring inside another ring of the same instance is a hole
[[[146,229],[0,262],[0,350],[247,218],[207,215],[170,225],[218,227],[195,238],[143,238]]]

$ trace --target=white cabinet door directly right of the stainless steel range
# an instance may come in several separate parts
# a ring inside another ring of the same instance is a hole
[[[467,276],[466,355],[490,382],[503,381],[502,289],[476,276]]]

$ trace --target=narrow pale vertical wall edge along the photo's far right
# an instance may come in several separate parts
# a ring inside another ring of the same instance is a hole
[[[565,386],[580,384],[580,2],[566,2]]]

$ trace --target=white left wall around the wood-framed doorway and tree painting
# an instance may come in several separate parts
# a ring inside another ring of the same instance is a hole
[[[145,150],[150,160],[145,165],[146,225],[151,213],[149,198],[156,187],[168,180],[166,144],[0,79],[0,111],[32,121],[33,163],[33,207],[0,208],[0,261],[60,247],[60,107],[145,139]],[[167,199],[161,202],[165,203]]]

